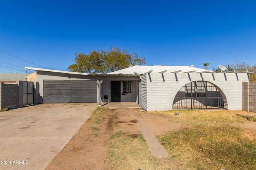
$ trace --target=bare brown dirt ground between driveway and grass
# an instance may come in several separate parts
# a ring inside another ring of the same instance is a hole
[[[148,123],[156,135],[165,131],[177,131],[182,125],[170,124],[168,116],[139,112],[137,109],[108,109],[105,121],[95,125],[86,122],[70,140],[66,147],[54,158],[46,170],[106,170],[110,165],[106,161],[108,139],[118,131],[133,134],[138,132],[137,115]],[[256,122],[241,125],[256,135]],[[164,159],[164,158],[162,158]],[[158,159],[158,161],[162,161]]]

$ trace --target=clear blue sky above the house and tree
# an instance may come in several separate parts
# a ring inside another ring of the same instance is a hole
[[[116,45],[147,65],[254,65],[256,1],[0,2],[1,73],[22,73],[25,66],[66,70],[74,53]]]

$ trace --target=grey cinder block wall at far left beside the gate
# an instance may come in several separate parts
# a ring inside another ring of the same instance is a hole
[[[8,107],[15,109],[19,107],[19,86],[18,84],[0,83],[0,109]]]

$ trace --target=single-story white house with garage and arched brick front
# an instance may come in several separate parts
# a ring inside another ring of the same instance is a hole
[[[131,66],[108,74],[43,68],[36,71],[39,103],[137,102],[147,111],[242,109],[248,72],[213,72],[193,66]]]

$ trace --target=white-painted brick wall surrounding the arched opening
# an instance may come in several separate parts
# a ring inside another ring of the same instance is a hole
[[[226,109],[242,109],[242,82],[247,74],[235,73],[149,73],[141,76],[141,106],[147,111],[171,110],[174,98],[185,84],[207,81],[216,85]],[[146,92],[145,92],[146,91]]]

